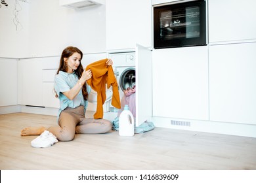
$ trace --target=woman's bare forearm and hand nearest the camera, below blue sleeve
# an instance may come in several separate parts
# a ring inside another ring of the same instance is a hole
[[[78,80],[77,84],[75,84],[75,86],[71,90],[63,92],[63,94],[68,97],[68,99],[73,100],[83,87],[83,84],[85,84],[85,81],[89,80],[89,78],[91,78],[91,69],[83,71],[83,74]]]

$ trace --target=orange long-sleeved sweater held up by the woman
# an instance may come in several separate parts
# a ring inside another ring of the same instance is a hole
[[[121,108],[120,97],[118,92],[118,86],[116,77],[112,66],[106,65],[108,59],[101,59],[87,65],[86,71],[91,69],[92,77],[87,80],[87,84],[91,86],[95,92],[97,92],[97,108],[94,114],[95,119],[101,119],[103,117],[102,105],[106,101],[106,84],[110,88],[112,86],[112,105],[116,108]]]

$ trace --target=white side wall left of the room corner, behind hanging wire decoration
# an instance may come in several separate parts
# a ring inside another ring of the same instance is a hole
[[[14,1],[6,1],[8,7],[2,5],[0,8],[0,58],[19,58],[24,57],[28,52],[28,36],[29,36],[29,5],[20,2],[17,6],[18,21],[17,26],[14,25]]]

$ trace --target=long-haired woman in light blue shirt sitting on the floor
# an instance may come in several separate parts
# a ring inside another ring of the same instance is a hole
[[[91,92],[86,80],[91,78],[92,73],[91,70],[83,69],[82,58],[83,53],[76,47],[69,46],[63,50],[54,79],[56,97],[60,99],[58,125],[22,129],[22,136],[40,135],[32,141],[32,146],[51,146],[58,141],[72,141],[75,133],[107,133],[112,129],[112,123],[108,120],[85,118],[87,99]],[[106,61],[106,65],[112,64],[112,59]]]

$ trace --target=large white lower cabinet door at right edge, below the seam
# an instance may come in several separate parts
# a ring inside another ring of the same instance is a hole
[[[209,46],[209,118],[256,124],[256,42]]]

